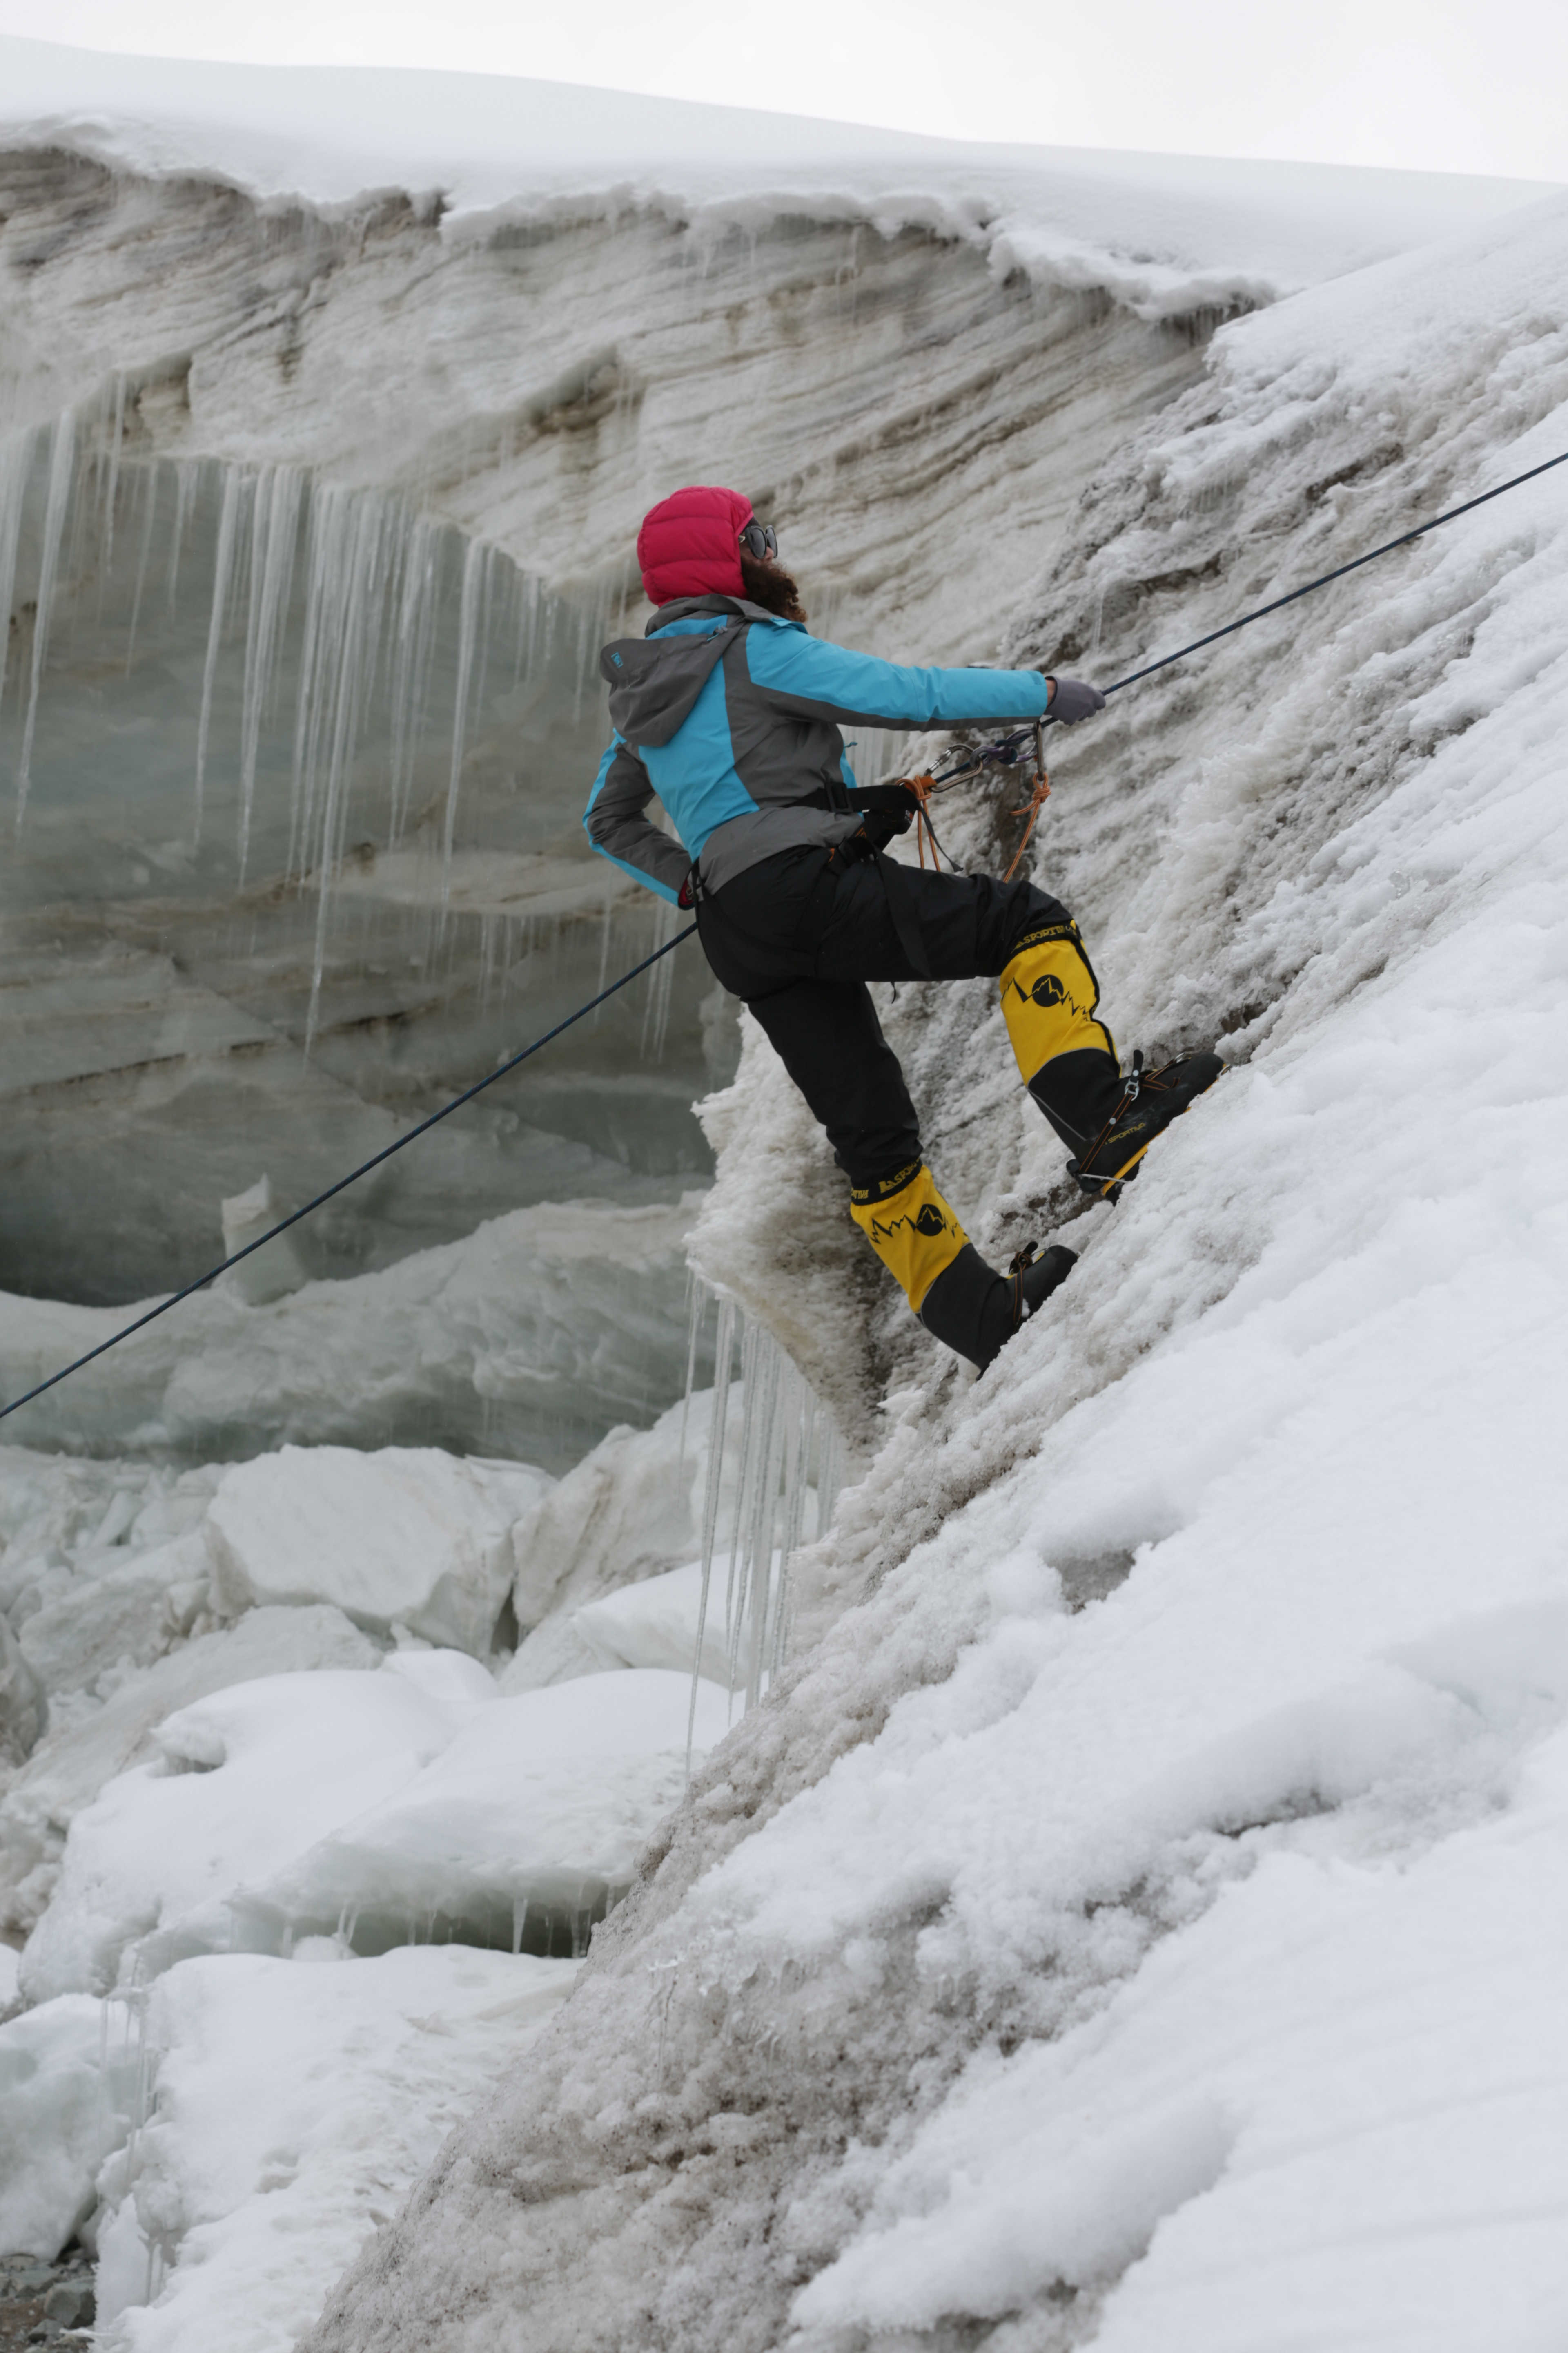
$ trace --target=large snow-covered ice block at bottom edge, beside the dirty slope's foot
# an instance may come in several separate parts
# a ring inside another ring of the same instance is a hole
[[[101,2341],[284,2353],[571,1977],[470,1946],[343,1960],[329,1944],[160,1977],[148,2113],[103,2172]]]

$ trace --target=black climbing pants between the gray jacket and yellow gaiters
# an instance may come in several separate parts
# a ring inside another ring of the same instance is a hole
[[[858,1188],[924,1158],[865,984],[994,979],[1025,932],[1070,920],[1032,882],[889,866],[849,847],[783,849],[698,904],[708,962],[752,1009]]]

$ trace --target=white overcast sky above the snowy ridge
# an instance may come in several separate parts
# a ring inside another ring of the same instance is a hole
[[[0,33],[527,73],[959,139],[1568,181],[1568,0],[0,0]]]

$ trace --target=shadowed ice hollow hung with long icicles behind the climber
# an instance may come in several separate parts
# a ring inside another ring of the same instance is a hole
[[[294,466],[139,452],[153,381],[0,452],[0,1289],[221,1254],[668,936],[592,859],[607,614]],[[301,1235],[348,1275],[538,1200],[672,1200],[733,1021],[670,958]]]

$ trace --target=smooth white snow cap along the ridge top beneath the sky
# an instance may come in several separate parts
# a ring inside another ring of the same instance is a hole
[[[976,146],[569,82],[209,66],[0,40],[0,139],[118,169],[219,174],[343,205],[437,195],[449,221],[668,214],[701,238],[780,214],[924,228],[997,273],[1105,289],[1143,318],[1232,311],[1488,219],[1528,181]]]

